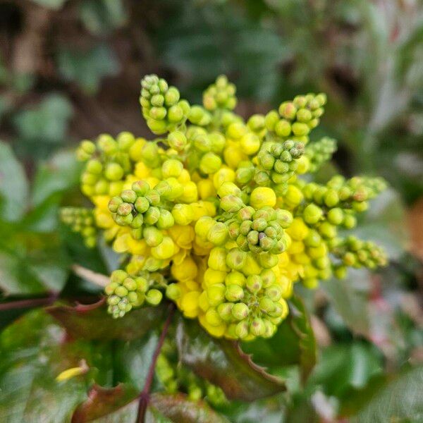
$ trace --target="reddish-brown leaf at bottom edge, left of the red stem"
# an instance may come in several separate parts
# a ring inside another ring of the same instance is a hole
[[[73,412],[72,423],[90,422],[99,417],[116,412],[137,397],[137,391],[128,384],[119,384],[114,388],[94,385],[88,398]]]

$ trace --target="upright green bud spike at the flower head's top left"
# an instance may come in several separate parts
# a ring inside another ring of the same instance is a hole
[[[157,75],[147,75],[141,81],[140,104],[142,116],[154,134],[176,130],[190,114],[190,104],[180,99],[176,87],[169,87]]]

